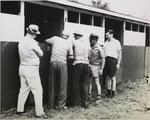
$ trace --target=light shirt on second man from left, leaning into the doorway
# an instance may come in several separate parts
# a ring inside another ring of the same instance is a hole
[[[54,36],[46,40],[52,44],[51,62],[60,61],[67,63],[67,55],[73,55],[72,43],[62,37]]]

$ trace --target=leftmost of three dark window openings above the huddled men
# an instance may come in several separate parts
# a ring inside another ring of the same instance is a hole
[[[79,13],[68,11],[68,22],[79,23]]]

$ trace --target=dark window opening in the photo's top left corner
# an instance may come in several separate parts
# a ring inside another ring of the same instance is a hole
[[[18,15],[20,13],[20,2],[1,1],[1,12]]]

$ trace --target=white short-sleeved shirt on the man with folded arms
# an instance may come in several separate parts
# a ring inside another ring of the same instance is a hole
[[[39,65],[37,53],[43,54],[41,48],[34,39],[25,37],[18,45],[21,65]]]

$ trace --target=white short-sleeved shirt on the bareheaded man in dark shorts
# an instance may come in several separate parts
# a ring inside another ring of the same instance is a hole
[[[105,56],[113,57],[118,59],[119,51],[121,50],[121,44],[118,40],[112,39],[111,41],[106,41],[104,43]]]

